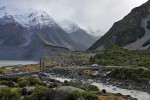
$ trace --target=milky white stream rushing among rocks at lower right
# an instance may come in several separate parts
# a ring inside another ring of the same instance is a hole
[[[65,80],[71,80],[67,78],[54,78],[57,79],[61,82],[64,82]],[[96,83],[94,82],[92,85],[97,86],[100,90],[105,89],[107,92],[110,93],[121,93],[123,95],[131,95],[134,98],[137,98],[138,100],[150,100],[150,94],[142,91],[137,91],[137,90],[128,90],[128,89],[122,89],[118,88],[112,85],[105,85],[102,83]]]

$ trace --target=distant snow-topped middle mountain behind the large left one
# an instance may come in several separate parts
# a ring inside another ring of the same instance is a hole
[[[83,50],[87,50],[97,39],[88,34],[86,30],[80,28],[76,23],[69,20],[61,21],[59,24],[68,33],[69,37],[82,47],[81,49]]]

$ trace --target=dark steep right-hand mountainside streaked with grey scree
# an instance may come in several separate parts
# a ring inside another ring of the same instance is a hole
[[[89,50],[101,50],[112,44],[129,50],[150,48],[150,0],[114,23]]]

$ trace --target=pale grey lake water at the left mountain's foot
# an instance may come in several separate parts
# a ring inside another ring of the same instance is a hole
[[[37,61],[0,61],[1,66],[38,64]]]

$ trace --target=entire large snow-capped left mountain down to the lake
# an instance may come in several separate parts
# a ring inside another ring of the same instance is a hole
[[[44,11],[0,8],[0,60],[39,59],[47,53],[85,50],[82,46]]]

